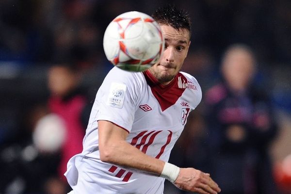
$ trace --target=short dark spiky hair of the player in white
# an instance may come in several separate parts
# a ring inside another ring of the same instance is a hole
[[[188,13],[183,9],[178,9],[175,5],[159,7],[152,17],[160,25],[170,25],[176,30],[187,30],[191,36],[191,20]]]

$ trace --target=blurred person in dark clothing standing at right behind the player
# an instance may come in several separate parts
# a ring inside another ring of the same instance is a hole
[[[210,174],[223,194],[276,194],[268,148],[277,128],[267,94],[252,80],[255,64],[248,47],[229,47],[223,79],[206,94]]]

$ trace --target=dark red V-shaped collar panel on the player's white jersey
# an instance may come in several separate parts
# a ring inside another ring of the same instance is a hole
[[[162,85],[151,73],[149,70],[143,72],[146,78],[147,84],[150,86],[150,89],[153,95],[158,100],[162,111],[166,110],[170,106],[174,105],[178,98],[182,96],[186,88],[178,87],[178,77],[181,77],[181,80],[187,80],[187,78],[180,72],[176,75],[174,80],[172,80],[168,85]]]

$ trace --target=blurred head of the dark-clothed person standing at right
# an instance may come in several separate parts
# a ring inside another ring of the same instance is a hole
[[[222,59],[222,75],[230,88],[244,90],[255,74],[255,65],[254,53],[248,46],[231,45]]]

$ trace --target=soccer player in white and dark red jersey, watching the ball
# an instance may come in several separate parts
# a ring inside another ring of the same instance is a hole
[[[165,178],[185,191],[220,192],[209,174],[167,162],[202,95],[195,78],[179,72],[190,46],[188,14],[166,6],[153,18],[165,36],[164,53],[145,72],[113,67],[104,79],[83,151],[67,165],[71,194],[162,194]]]

